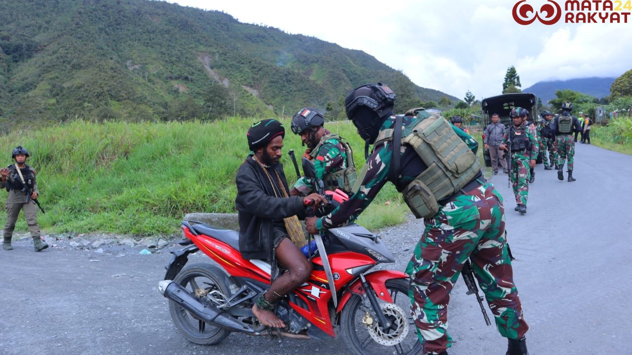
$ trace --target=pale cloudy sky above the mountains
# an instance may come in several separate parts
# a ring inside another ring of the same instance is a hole
[[[554,25],[518,25],[518,0],[167,1],[359,49],[420,87],[460,99],[467,90],[477,99],[499,95],[512,65],[522,88],[632,69],[632,16],[628,23],[564,23],[562,16]],[[552,2],[526,0],[535,10]]]

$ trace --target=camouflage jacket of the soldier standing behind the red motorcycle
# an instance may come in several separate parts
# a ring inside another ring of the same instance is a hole
[[[347,154],[339,137],[327,137],[329,131],[325,132],[324,142],[320,142],[320,148],[317,153],[310,155],[313,157],[312,163],[316,169],[316,177],[324,180],[325,176],[332,172],[341,171],[347,167]],[[307,154],[303,155],[304,157]],[[296,181],[293,186],[296,190],[300,191],[303,195],[312,193],[312,183],[304,176]]]

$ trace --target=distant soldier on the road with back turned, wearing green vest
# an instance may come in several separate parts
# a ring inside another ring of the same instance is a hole
[[[557,137],[557,179],[564,181],[564,161],[568,157],[568,182],[575,181],[573,178],[573,157],[575,155],[575,142],[573,132],[581,131],[581,125],[577,117],[571,116],[573,104],[564,102],[562,104],[562,113],[559,114],[553,123],[551,129]]]

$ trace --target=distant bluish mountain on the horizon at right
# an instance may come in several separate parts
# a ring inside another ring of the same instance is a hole
[[[532,86],[525,88],[522,92],[532,92],[547,104],[549,100],[555,99],[557,90],[573,90],[585,93],[592,97],[602,99],[610,95],[610,87],[616,78],[580,78],[569,80],[538,81]]]

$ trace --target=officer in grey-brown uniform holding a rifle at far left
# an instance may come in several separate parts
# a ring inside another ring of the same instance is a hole
[[[27,165],[28,151],[21,147],[15,147],[11,154],[11,159],[15,159],[15,164],[11,164],[0,170],[0,188],[6,188],[9,195],[6,198],[6,224],[4,225],[4,250],[13,250],[11,238],[13,229],[18,220],[20,210],[24,210],[24,217],[27,219],[28,231],[33,238],[35,251],[42,251],[48,248],[48,244],[42,241],[39,225],[37,224],[37,205],[35,200],[39,195],[37,182],[35,181],[35,171]],[[31,193],[27,191],[30,190]]]

